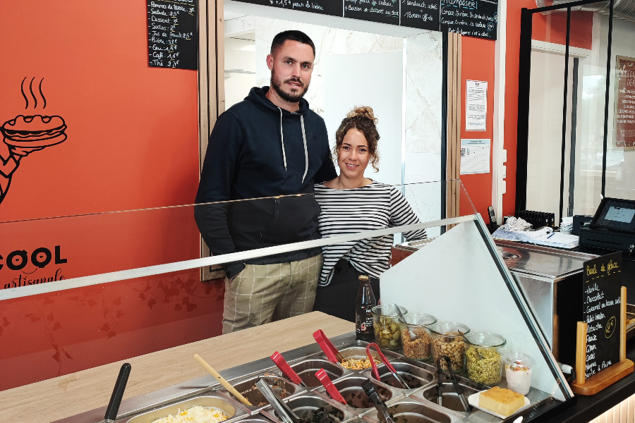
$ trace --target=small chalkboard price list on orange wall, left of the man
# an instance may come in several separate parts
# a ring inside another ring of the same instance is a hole
[[[158,68],[198,69],[196,0],[147,1],[147,63]]]

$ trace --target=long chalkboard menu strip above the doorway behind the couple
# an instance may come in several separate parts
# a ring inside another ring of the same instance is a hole
[[[238,0],[388,23],[422,30],[496,39],[498,0]]]

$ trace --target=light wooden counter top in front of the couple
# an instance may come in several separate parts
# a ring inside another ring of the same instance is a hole
[[[193,359],[199,354],[217,371],[315,343],[313,332],[329,338],[355,330],[355,324],[311,312],[244,331],[157,351],[129,360],[0,392],[2,422],[49,423],[98,407],[110,399],[119,368],[132,365],[124,399],[207,376]]]

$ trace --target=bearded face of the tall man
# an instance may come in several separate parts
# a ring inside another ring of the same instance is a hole
[[[291,103],[300,101],[311,82],[314,60],[310,45],[290,39],[267,56],[271,86],[279,97]]]

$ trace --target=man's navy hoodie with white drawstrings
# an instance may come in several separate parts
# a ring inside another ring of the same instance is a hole
[[[320,238],[320,206],[313,183],[337,176],[324,119],[309,109],[286,111],[270,102],[269,87],[253,87],[242,102],[216,121],[200,176],[194,216],[212,255],[254,250]],[[294,197],[263,198],[306,194]],[[291,262],[321,249],[249,260],[250,264]],[[229,278],[243,262],[223,265]]]

